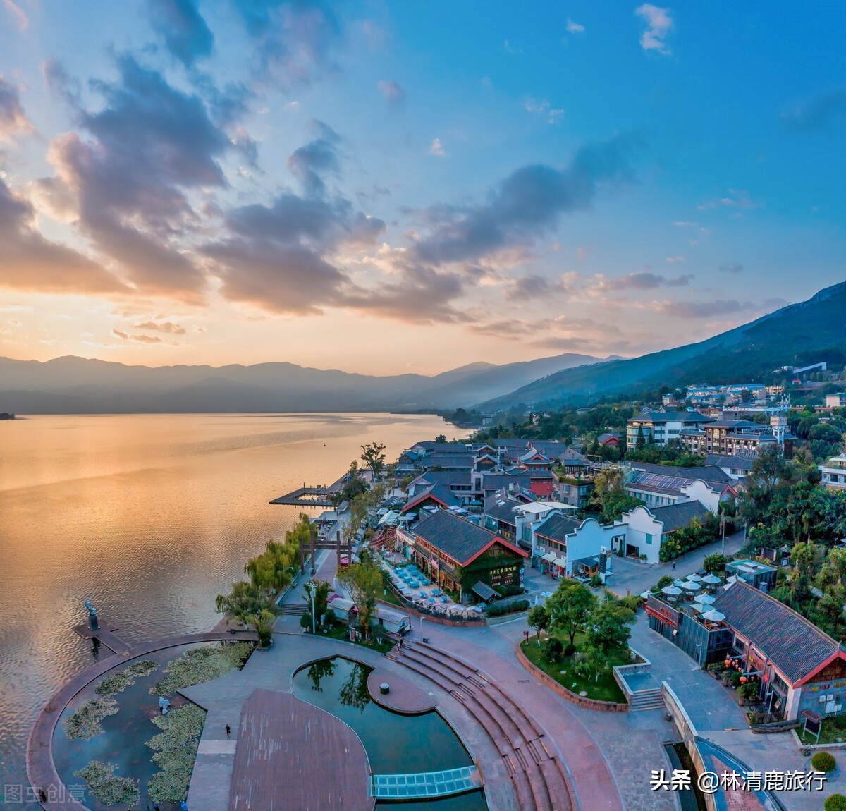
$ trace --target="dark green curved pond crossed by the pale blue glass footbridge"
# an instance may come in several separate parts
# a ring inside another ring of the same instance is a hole
[[[325,709],[360,737],[374,774],[411,774],[469,766],[470,754],[437,711],[393,713],[373,702],[367,689],[371,668],[340,656],[321,659],[294,674],[294,695]],[[393,803],[377,803],[377,808]],[[403,803],[404,811],[485,811],[483,792]]]

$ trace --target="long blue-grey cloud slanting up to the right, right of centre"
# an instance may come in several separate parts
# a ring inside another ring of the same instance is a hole
[[[569,166],[515,169],[477,203],[436,204],[419,212],[427,233],[411,250],[422,263],[481,262],[499,251],[530,246],[566,214],[591,206],[604,183],[634,178],[639,141],[616,136],[583,146]]]

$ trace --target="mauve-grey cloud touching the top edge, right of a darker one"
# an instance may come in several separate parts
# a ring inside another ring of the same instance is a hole
[[[338,70],[332,49],[341,25],[321,0],[250,0],[235,3],[255,53],[255,76],[283,91]]]

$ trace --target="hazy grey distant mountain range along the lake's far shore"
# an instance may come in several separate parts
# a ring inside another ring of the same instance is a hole
[[[294,363],[146,367],[75,356],[46,362],[0,358],[0,411],[104,414],[454,409],[508,394],[562,369],[597,362],[602,359],[565,354],[503,366],[471,363],[434,377],[373,377]]]

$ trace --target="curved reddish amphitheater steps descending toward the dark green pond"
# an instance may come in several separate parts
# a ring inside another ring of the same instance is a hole
[[[426,643],[406,642],[387,655],[464,704],[502,755],[521,811],[573,811],[563,764],[547,750],[544,732],[495,681]]]

